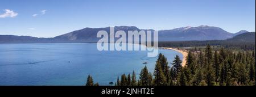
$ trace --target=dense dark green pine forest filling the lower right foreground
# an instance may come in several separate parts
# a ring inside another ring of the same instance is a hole
[[[168,65],[160,53],[151,74],[145,66],[136,79],[133,74],[117,77],[117,86],[255,86],[255,50],[235,51],[220,48],[189,50],[187,63],[181,66],[176,55]],[[87,85],[87,83],[86,83]]]

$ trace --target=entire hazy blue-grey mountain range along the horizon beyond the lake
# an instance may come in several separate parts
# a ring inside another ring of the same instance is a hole
[[[89,43],[97,42],[97,32],[104,30],[109,33],[110,27],[105,28],[84,28],[77,31],[65,33],[64,35],[51,38],[38,38],[31,36],[0,35],[0,43]],[[141,31],[153,29],[139,29],[135,26],[115,26],[115,31]],[[159,41],[190,41],[190,40],[225,40],[248,31],[242,30],[237,33],[230,33],[219,27],[199,26],[181,27],[175,29],[160,30]]]

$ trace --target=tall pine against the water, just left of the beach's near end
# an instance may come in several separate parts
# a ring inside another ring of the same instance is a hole
[[[180,60],[180,57],[176,55],[176,57],[172,63],[175,79],[177,78],[177,75],[180,73],[180,69],[182,67],[181,63],[182,63],[182,61]]]

